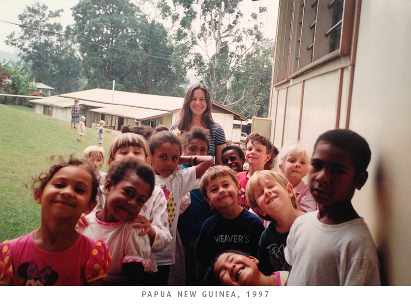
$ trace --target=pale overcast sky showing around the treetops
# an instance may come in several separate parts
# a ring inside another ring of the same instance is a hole
[[[18,15],[21,14],[26,5],[32,5],[35,2],[46,4],[50,10],[64,9],[62,18],[60,20],[63,25],[63,29],[72,24],[73,18],[71,17],[70,8],[75,6],[79,0],[0,0],[0,20],[19,23]],[[265,28],[263,29],[266,37],[275,39],[275,29],[277,23],[277,10],[279,0],[243,0],[241,11],[244,14],[250,14],[251,12],[258,13],[259,6],[266,6],[268,13],[266,14],[264,22]],[[20,31],[18,26],[11,25],[0,21],[0,51],[15,53],[15,50],[7,46],[4,43],[7,35],[12,31],[17,33]]]

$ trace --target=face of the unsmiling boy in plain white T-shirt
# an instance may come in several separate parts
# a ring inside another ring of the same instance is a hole
[[[349,203],[355,189],[360,189],[366,181],[362,176],[356,177],[348,152],[326,141],[317,143],[308,170],[308,185],[319,205]]]

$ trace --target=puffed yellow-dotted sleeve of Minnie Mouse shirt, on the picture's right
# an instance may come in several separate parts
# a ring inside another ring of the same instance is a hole
[[[110,251],[102,239],[95,242],[95,246],[90,253],[87,266],[84,271],[86,283],[98,280],[107,276],[111,266]]]

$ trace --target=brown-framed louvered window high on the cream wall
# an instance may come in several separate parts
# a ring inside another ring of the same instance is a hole
[[[280,0],[274,82],[349,55],[356,0]]]

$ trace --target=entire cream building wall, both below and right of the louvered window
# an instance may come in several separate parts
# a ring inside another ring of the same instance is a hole
[[[355,65],[341,66],[338,60],[325,63],[276,88],[272,95],[276,147],[283,141],[284,117],[284,142],[297,139],[297,83],[301,81],[300,141],[310,153],[318,135],[336,126],[348,126],[368,141],[369,179],[355,192],[352,203],[371,230],[380,254],[382,282],[389,285],[411,285],[410,20],[411,1],[363,0]]]

